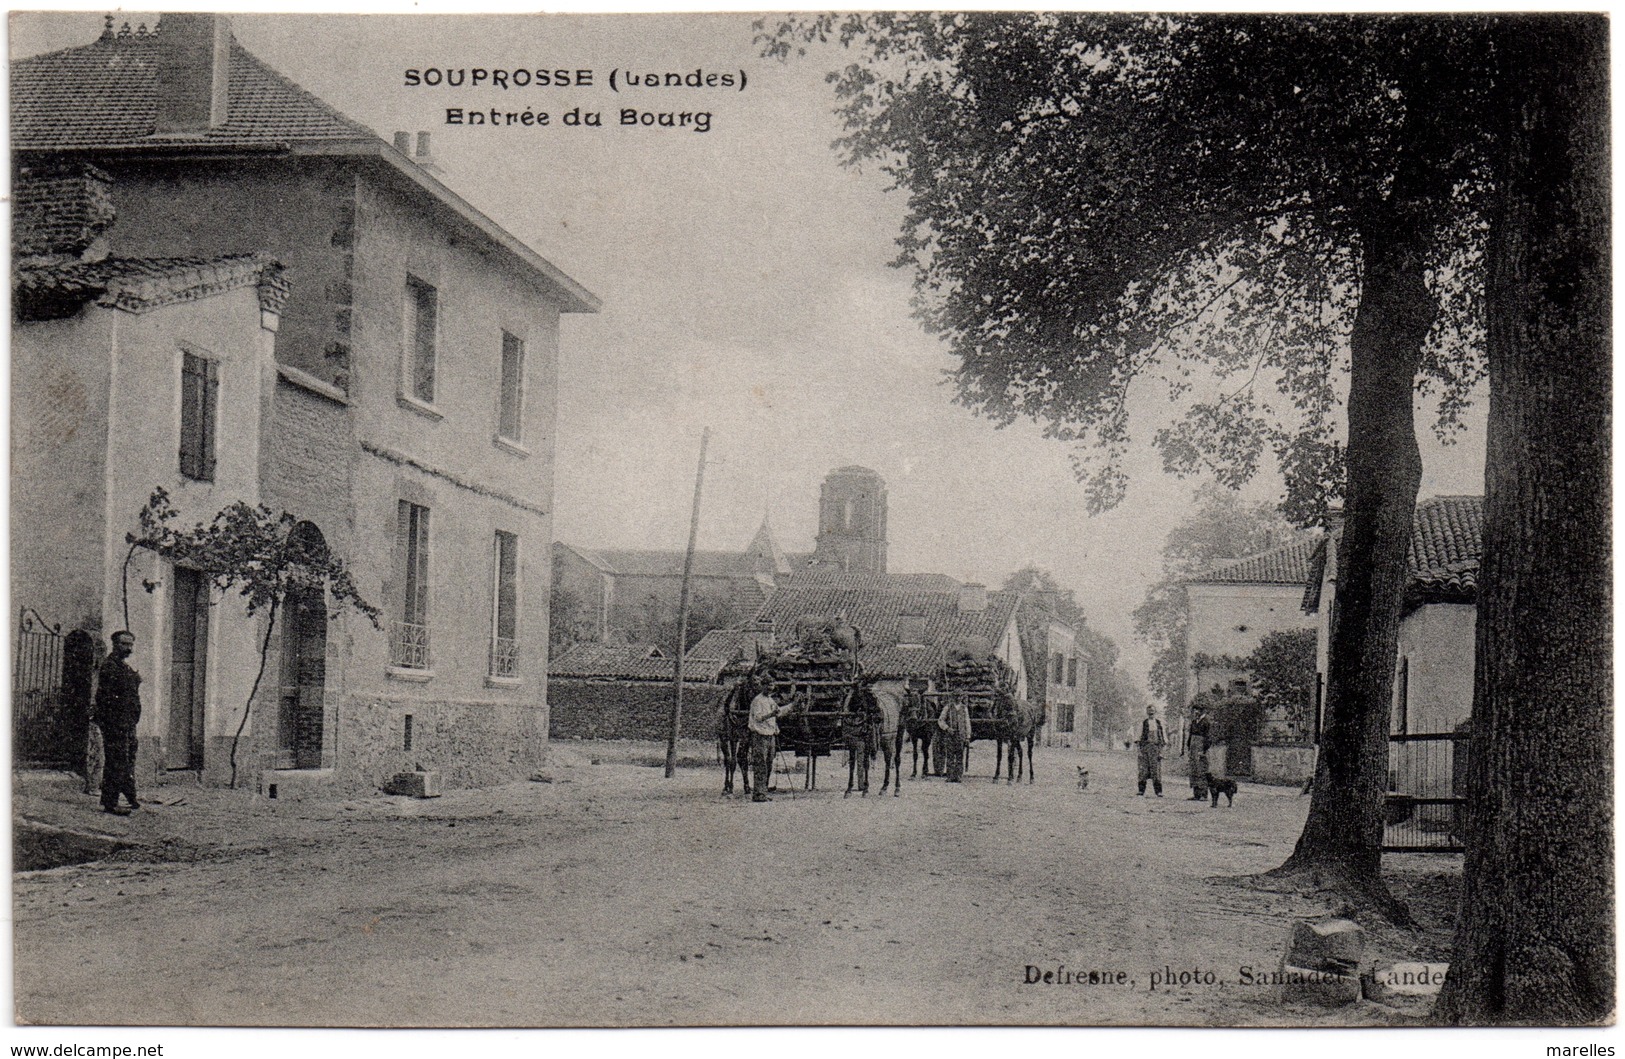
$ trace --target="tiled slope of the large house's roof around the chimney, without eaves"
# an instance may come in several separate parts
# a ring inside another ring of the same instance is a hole
[[[93,44],[11,65],[11,148],[275,146],[377,140],[306,89],[231,42],[226,123],[192,136],[154,136],[158,32],[102,34]]]

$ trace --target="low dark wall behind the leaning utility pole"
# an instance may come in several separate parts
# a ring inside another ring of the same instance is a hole
[[[670,681],[548,681],[552,739],[658,739],[671,733]],[[715,684],[684,684],[681,739],[717,733]]]

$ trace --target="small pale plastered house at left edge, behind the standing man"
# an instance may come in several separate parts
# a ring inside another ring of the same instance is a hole
[[[102,175],[84,167],[16,185],[11,594],[42,622],[88,633],[96,655],[128,629],[146,679],[138,768],[214,778],[249,697],[258,637],[236,598],[210,606],[195,570],[154,570],[145,554],[127,562],[125,534],[158,487],[182,525],[234,500],[258,502],[288,286],[260,255],[99,257],[104,192]],[[76,236],[62,223],[96,213]],[[216,443],[223,427],[229,445]],[[36,664],[15,677],[13,692],[28,697],[58,687],[62,674]],[[73,763],[86,695],[58,708],[73,713],[58,739],[68,729],[75,739],[36,750]]]

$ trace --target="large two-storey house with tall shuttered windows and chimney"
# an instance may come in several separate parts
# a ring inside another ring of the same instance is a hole
[[[559,315],[596,297],[442,184],[427,136],[408,154],[408,138],[255,58],[221,16],[166,15],[146,34],[109,21],[88,45],[13,63],[11,143],[20,171],[107,175],[112,258],[258,253],[284,268],[260,411],[219,430],[218,460],[252,460],[257,499],[349,564],[384,627],[325,606],[283,624],[249,736],[254,781],[288,797],[411,768],[452,786],[523,775],[548,731]],[[133,518],[110,512],[109,536]],[[141,572],[162,585],[146,598],[150,674],[171,664],[171,573]],[[106,609],[70,620],[110,630]],[[171,695],[146,687],[143,741],[161,741]],[[206,731],[228,703],[205,690]],[[202,772],[219,775],[206,747]]]

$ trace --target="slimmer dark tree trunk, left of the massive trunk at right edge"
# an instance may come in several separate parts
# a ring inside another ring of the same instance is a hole
[[[1396,195],[1398,198],[1398,195]],[[1391,201],[1362,232],[1360,309],[1349,335],[1349,484],[1326,666],[1315,799],[1280,874],[1380,898],[1381,797],[1410,523],[1422,482],[1412,395],[1436,302],[1424,281],[1425,226]]]

